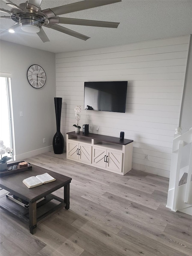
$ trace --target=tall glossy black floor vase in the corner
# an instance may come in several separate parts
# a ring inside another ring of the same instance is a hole
[[[55,154],[62,154],[64,149],[64,138],[60,132],[62,98],[54,98],[57,132],[53,137],[53,151]]]

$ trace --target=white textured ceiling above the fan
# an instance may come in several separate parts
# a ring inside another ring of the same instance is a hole
[[[24,1],[11,0],[16,5]],[[93,0],[94,1],[94,0]],[[10,10],[4,2],[1,8]],[[67,5],[78,0],[42,0],[41,9]],[[1,16],[7,15],[0,13]],[[130,44],[161,38],[192,34],[192,1],[188,0],[122,0],[70,14],[60,15],[87,20],[120,22],[117,29],[64,25],[68,29],[91,37],[87,41],[43,27],[50,42],[43,43],[35,33],[23,32],[20,27],[15,33],[1,35],[1,40],[14,42],[53,53],[71,52]],[[9,19],[0,19],[0,30],[14,24]]]

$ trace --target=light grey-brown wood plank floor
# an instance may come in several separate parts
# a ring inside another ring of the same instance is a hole
[[[70,209],[34,235],[1,210],[1,256],[192,255],[192,216],[165,207],[167,178],[137,170],[121,176],[53,152],[26,160],[72,178]]]

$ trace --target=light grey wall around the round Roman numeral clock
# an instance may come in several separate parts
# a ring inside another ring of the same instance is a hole
[[[12,75],[16,160],[49,151],[56,132],[55,53],[7,41],[1,41],[0,51],[0,72]],[[40,65],[46,72],[46,83],[41,89],[33,88],[27,80],[27,70],[33,64]],[[19,111],[23,117],[19,117]]]

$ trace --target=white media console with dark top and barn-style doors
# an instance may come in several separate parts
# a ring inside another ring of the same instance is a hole
[[[133,140],[67,133],[67,159],[125,175],[132,168]]]

